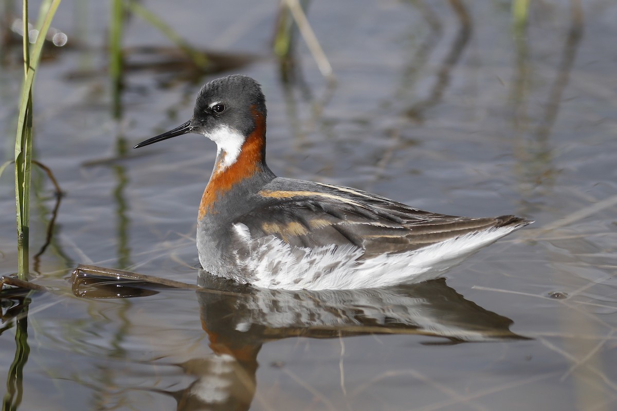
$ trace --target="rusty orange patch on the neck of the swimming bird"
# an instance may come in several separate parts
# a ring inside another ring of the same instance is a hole
[[[201,203],[199,203],[200,220],[204,218],[205,214],[214,212],[214,203],[231,190],[231,187],[244,179],[254,176],[260,169],[260,165],[265,157],[266,121],[263,115],[257,112],[255,107],[252,107],[252,113],[255,120],[255,129],[246,138],[244,144],[242,144],[242,149],[236,162],[222,169],[221,163],[227,153],[221,152],[217,157],[214,171],[212,176],[210,176],[207,187],[205,187]]]

